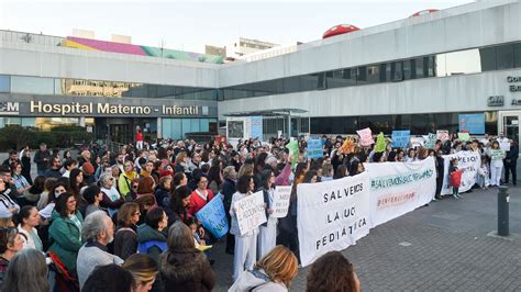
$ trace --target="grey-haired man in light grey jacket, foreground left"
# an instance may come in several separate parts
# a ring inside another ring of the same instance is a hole
[[[114,239],[114,224],[103,211],[96,211],[85,218],[81,239],[85,245],[79,249],[77,259],[80,288],[96,267],[123,263],[121,258],[108,252],[107,245]]]

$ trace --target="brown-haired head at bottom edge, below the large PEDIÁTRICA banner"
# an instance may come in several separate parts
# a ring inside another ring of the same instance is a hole
[[[361,282],[351,263],[340,251],[330,251],[311,266],[308,292],[361,291]]]

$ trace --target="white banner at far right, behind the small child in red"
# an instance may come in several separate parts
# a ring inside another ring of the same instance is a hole
[[[457,158],[457,168],[463,169],[462,184],[459,186],[459,192],[466,192],[476,183],[477,171],[481,167],[481,157],[479,153],[474,151],[458,151],[456,154],[444,155],[444,176],[442,194],[452,194],[451,187],[451,173],[448,173],[448,167],[451,160]]]

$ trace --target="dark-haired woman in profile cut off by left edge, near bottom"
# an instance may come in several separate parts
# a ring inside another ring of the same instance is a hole
[[[0,228],[0,288],[11,259],[23,249],[23,237],[15,227]],[[2,289],[2,291],[7,291]]]

